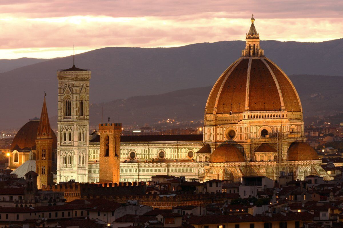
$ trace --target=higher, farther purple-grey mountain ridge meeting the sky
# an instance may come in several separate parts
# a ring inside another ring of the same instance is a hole
[[[164,94],[180,89],[213,85],[221,73],[239,58],[244,46],[244,41],[222,41],[177,48],[103,48],[78,54],[75,56],[75,62],[77,67],[92,70],[90,99],[91,103],[95,104],[132,96]],[[340,55],[343,52],[343,39],[320,43],[271,40],[261,41],[261,46],[265,50],[265,55],[288,75],[342,76],[343,65]],[[3,110],[0,126],[21,126],[28,118],[34,116],[36,110],[39,113],[44,91],[48,94],[49,115],[55,116],[56,71],[69,68],[71,65],[72,56],[68,56],[0,74]],[[321,77],[326,76],[311,78],[308,83],[320,87],[321,82],[316,80]],[[330,83],[326,78],[322,80]],[[303,86],[301,90],[311,90],[309,87]],[[325,90],[331,88],[326,87]],[[207,95],[208,93],[204,96]],[[180,99],[182,100],[182,97]],[[204,105],[199,103],[199,106]],[[203,110],[200,115],[202,113]],[[140,116],[141,113],[134,115]]]

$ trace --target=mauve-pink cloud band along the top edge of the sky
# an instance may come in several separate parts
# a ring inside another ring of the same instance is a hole
[[[246,18],[255,13],[259,18],[326,18],[341,17],[342,1],[227,1],[227,0],[23,0],[0,1],[0,13],[16,13],[30,18],[73,15],[111,17],[180,16],[206,12],[227,12],[230,18]],[[253,9],[253,10],[252,10]]]

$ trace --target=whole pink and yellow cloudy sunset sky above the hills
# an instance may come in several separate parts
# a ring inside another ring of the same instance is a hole
[[[338,0],[0,0],[0,59],[54,58],[108,46],[342,38]]]

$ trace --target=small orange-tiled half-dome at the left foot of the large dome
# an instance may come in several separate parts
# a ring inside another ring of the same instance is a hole
[[[210,155],[209,162],[245,162],[242,152],[237,147],[224,144]]]

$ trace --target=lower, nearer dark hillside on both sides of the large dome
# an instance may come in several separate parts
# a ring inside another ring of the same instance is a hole
[[[289,78],[297,89],[304,109],[304,118],[314,115],[334,115],[343,112],[343,77],[322,75],[292,75]],[[177,90],[169,93],[134,96],[111,102],[92,104],[90,125],[101,122],[101,106],[104,120],[110,117],[124,125],[154,123],[166,118],[181,120],[203,120],[204,108],[212,86]],[[54,127],[56,116],[50,118]],[[340,121],[342,122],[343,119]]]

